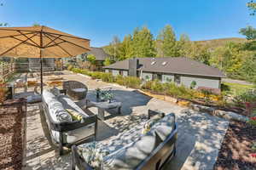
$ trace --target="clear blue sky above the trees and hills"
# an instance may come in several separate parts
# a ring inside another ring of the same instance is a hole
[[[167,24],[193,41],[242,37],[239,29],[255,26],[249,0],[0,0],[0,20],[9,26],[38,23],[90,39],[91,47],[108,45],[136,27],[154,37]]]

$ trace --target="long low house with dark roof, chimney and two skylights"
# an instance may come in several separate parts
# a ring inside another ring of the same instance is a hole
[[[186,57],[133,58],[104,67],[105,72],[114,76],[137,76],[149,81],[176,82],[195,88],[220,88],[222,71]]]

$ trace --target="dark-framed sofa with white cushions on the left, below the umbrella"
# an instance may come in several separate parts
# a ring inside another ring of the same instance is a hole
[[[54,144],[59,146],[60,155],[63,154],[63,146],[71,147],[96,137],[96,115],[84,112],[66,95],[65,90],[55,88],[55,92],[51,92],[44,89],[42,100],[49,133]]]

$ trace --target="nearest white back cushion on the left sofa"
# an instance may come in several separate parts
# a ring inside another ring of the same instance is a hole
[[[49,102],[49,115],[55,122],[73,122],[72,116],[65,111],[61,102],[51,99]]]

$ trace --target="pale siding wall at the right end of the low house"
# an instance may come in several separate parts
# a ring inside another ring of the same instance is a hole
[[[189,76],[181,76],[181,84],[186,87],[190,87],[191,82],[195,81],[196,86],[207,87],[207,88],[219,88],[219,79],[213,77],[189,77]]]

